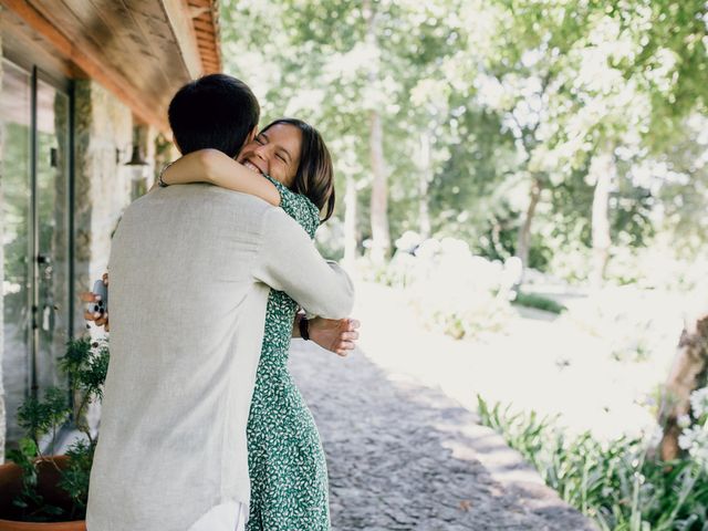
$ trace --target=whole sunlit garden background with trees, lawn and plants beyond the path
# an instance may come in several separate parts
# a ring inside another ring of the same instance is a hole
[[[317,242],[357,278],[358,355],[479,410],[604,529],[706,529],[707,11],[221,2],[263,124],[332,153]]]

